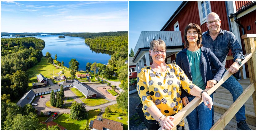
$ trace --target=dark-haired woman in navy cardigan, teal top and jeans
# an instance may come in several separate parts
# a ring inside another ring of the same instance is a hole
[[[215,22],[215,21],[213,21]],[[202,47],[202,31],[199,25],[190,23],[184,31],[185,49],[177,55],[176,64],[182,68],[189,80],[199,88],[213,87],[225,71],[222,63],[209,48]],[[212,75],[212,66],[217,74]],[[213,94],[210,95],[213,99]],[[186,106],[195,96],[182,89],[182,103]],[[212,127],[212,110],[201,103],[186,117],[190,130],[209,130]]]

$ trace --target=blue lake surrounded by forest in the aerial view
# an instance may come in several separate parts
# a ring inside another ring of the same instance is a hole
[[[69,67],[69,62],[74,58],[79,62],[79,71],[85,71],[86,64],[88,62],[107,64],[108,60],[111,58],[109,52],[105,54],[101,53],[104,51],[94,49],[91,50],[90,47],[85,44],[84,38],[70,36],[65,36],[65,38],[58,38],[59,35],[42,35],[33,37],[40,38],[45,41],[45,48],[42,50],[43,55],[45,56],[45,53],[49,52],[54,59],[55,54],[57,54],[57,60],[60,62],[63,61],[64,66],[66,67]],[[14,37],[3,36],[2,38]]]

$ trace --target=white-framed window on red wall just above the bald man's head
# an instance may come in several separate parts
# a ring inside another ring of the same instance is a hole
[[[207,15],[212,12],[210,1],[198,1],[201,25],[206,22]]]

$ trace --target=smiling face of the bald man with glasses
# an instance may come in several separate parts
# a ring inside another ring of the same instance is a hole
[[[219,17],[219,15],[218,14],[208,14],[208,16],[207,16],[207,22],[209,22],[209,21],[214,21],[214,20],[219,20],[220,19],[220,17]],[[219,32],[220,31],[220,27],[221,27],[221,20],[219,20],[217,23],[214,23],[214,22],[212,22],[212,23],[210,23],[210,24],[208,24],[208,23],[206,23],[206,26],[208,27],[208,29],[210,30],[210,31],[215,31],[215,32]]]

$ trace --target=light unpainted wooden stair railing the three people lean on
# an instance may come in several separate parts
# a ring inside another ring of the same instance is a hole
[[[238,97],[238,99],[230,106],[230,108],[221,116],[221,118],[212,126],[211,130],[223,130],[233,116],[238,112],[242,105],[250,98],[252,95],[255,117],[256,117],[256,35],[242,35],[246,47],[245,59],[242,61],[242,65],[247,62],[250,85],[245,89],[245,91]],[[242,67],[240,66],[240,68]],[[205,89],[208,94],[212,94],[217,88],[221,86],[233,73],[226,71],[221,80],[212,88]],[[180,110],[172,122],[174,127],[179,124],[179,122],[184,119],[189,113],[191,113],[199,104],[203,102],[201,97],[195,97],[190,103],[188,103],[182,110]],[[173,128],[176,129],[176,128]],[[161,128],[159,129],[161,130]]]

